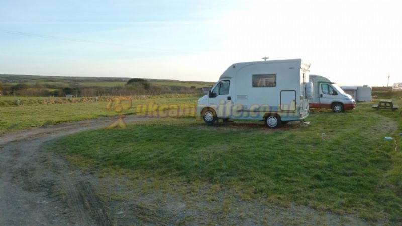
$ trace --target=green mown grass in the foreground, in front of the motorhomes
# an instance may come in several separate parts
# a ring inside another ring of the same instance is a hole
[[[400,141],[397,112],[359,104],[345,114],[313,113],[308,121],[269,130],[260,122],[207,127],[168,118],[70,135],[49,149],[103,170],[222,185],[242,197],[400,222],[401,150],[383,139]]]

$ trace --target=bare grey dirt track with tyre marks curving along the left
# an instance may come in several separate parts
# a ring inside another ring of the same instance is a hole
[[[127,116],[125,121],[145,119]],[[114,120],[66,123],[0,137],[0,225],[111,225],[92,191],[96,178],[41,147],[54,138],[106,127]]]

